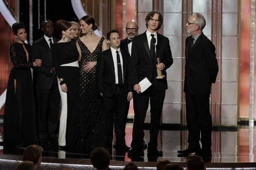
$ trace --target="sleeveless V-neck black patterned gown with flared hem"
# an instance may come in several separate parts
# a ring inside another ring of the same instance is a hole
[[[99,52],[102,51],[102,44],[105,40],[102,37],[91,53],[86,45],[77,39],[81,48],[81,65],[86,62],[97,61]],[[96,87],[96,67],[89,72],[80,68],[79,96],[76,105],[76,138],[74,148],[81,152],[90,152],[95,147],[104,147],[106,142],[106,125],[102,112],[102,98]]]

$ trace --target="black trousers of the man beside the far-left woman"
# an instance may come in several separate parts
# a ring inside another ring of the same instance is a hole
[[[52,88],[36,88],[38,99],[38,136],[41,140],[54,139],[58,128],[60,93],[57,78]]]

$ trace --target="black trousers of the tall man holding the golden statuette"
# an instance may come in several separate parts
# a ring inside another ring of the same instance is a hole
[[[163,101],[166,91],[158,91],[155,87],[149,87],[143,93],[134,93],[134,126],[132,130],[132,149],[138,150],[142,146],[144,137],[144,121],[148,110],[150,99],[150,141],[148,150],[157,148],[157,136],[160,127],[160,118],[163,110]]]

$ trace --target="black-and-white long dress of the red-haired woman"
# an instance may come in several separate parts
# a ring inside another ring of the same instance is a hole
[[[76,112],[76,99],[78,90],[79,52],[76,41],[58,42],[52,44],[53,61],[58,79],[67,85],[67,93],[61,94],[61,117],[58,135],[59,146],[70,147],[74,134],[74,116]]]

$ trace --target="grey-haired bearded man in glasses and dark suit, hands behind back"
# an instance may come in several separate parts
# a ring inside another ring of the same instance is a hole
[[[215,46],[204,35],[204,16],[196,13],[189,17],[186,29],[191,36],[186,38],[186,66],[184,92],[186,97],[186,121],[189,130],[188,149],[179,150],[182,154],[194,153],[202,157],[212,156],[212,116],[209,97],[211,85],[218,74],[218,61]],[[200,132],[201,143],[200,147]]]

